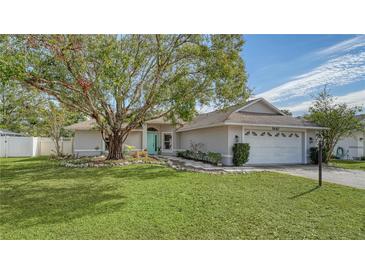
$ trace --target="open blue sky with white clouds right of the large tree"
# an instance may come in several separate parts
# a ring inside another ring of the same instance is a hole
[[[295,116],[328,90],[365,107],[365,35],[244,35],[242,57],[254,97]]]

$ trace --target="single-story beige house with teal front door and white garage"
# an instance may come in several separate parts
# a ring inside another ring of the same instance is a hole
[[[88,120],[68,127],[75,131],[74,153],[79,156],[107,153],[107,144]],[[133,130],[126,144],[149,154],[175,154],[198,145],[202,151],[222,154],[232,165],[232,146],[250,144],[248,164],[306,164],[309,148],[316,145],[316,132],[323,128],[302,118],[282,113],[263,98],[198,115],[193,121],[172,125],[163,118],[147,121]]]

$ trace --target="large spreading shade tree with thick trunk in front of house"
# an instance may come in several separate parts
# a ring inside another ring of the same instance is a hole
[[[109,159],[149,119],[248,97],[240,35],[4,35],[0,73],[95,119]]]

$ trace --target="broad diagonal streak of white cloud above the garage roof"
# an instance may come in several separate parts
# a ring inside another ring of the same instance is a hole
[[[324,85],[342,86],[361,80],[365,80],[365,51],[330,59],[310,72],[298,75],[294,80],[260,93],[259,96],[277,102],[317,92]]]

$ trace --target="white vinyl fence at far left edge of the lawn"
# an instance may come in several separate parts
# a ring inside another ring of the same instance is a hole
[[[72,154],[72,138],[60,141],[63,154]],[[51,138],[0,136],[0,157],[34,157],[56,154]]]

